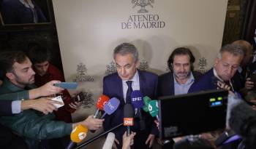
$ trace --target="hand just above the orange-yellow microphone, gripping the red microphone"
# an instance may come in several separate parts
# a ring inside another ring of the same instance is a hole
[[[86,120],[81,121],[81,124],[87,126],[90,130],[97,130],[102,127],[104,119],[93,118],[93,115],[88,116]]]

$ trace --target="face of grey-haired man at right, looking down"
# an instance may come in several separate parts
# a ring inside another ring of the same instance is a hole
[[[215,60],[214,68],[217,71],[217,75],[223,81],[229,81],[235,75],[241,60],[241,56],[232,55],[230,52],[223,52],[222,59],[219,60],[217,58]]]

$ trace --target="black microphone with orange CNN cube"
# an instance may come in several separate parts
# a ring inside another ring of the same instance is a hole
[[[124,126],[127,126],[127,136],[130,134],[129,126],[133,126],[133,116],[135,111],[132,107],[132,104],[124,105]]]

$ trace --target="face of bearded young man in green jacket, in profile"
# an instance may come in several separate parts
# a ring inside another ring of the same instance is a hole
[[[12,72],[7,73],[7,77],[10,78],[13,84],[17,86],[24,87],[29,84],[34,84],[34,71],[31,68],[32,63],[29,58],[26,57],[26,60],[23,63],[15,62],[12,65]]]

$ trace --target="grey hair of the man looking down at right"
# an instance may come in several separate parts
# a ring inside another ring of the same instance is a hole
[[[226,44],[224,47],[222,47],[222,49],[219,50],[219,53],[217,55],[217,58],[219,60],[222,59],[223,52],[229,52],[230,54],[232,54],[234,56],[240,56],[242,58],[244,57],[243,48],[237,44]]]

